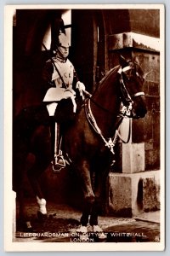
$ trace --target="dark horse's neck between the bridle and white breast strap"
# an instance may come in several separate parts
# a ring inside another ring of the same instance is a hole
[[[112,76],[100,84],[99,90],[94,93],[93,101],[91,101],[92,113],[105,137],[114,135],[117,114],[121,104],[116,73],[113,73]]]

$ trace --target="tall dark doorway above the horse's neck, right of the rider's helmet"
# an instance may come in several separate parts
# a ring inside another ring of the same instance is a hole
[[[89,92],[105,75],[105,37],[100,10],[72,9],[71,61]]]

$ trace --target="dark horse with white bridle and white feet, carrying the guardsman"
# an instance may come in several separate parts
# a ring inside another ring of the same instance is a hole
[[[69,155],[77,171],[84,196],[79,231],[86,232],[88,222],[94,231],[101,231],[98,226],[99,207],[113,161],[116,129],[126,114],[130,118],[144,118],[147,111],[143,84],[144,73],[139,61],[126,61],[121,58],[120,65],[106,74],[93,95],[86,99],[69,128],[64,129],[62,149]],[[124,110],[120,113],[122,105]],[[37,108],[36,111],[35,119],[39,120],[40,112]],[[20,217],[27,223],[28,228],[31,224],[28,223],[26,215],[22,173],[30,152],[34,154],[35,161],[28,171],[28,177],[37,196],[39,213],[42,216],[47,214],[38,177],[49,166],[52,155],[49,122],[46,123],[44,117],[42,119],[42,125],[37,122],[31,129],[20,119],[20,114],[14,122],[14,131],[17,132],[14,134],[13,189],[20,202]],[[17,125],[19,123],[22,125]]]

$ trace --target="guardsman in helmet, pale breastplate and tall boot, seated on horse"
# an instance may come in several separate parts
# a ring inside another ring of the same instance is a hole
[[[77,79],[75,68],[68,59],[70,42],[65,33],[59,32],[59,40],[56,41],[53,47],[54,55],[46,61],[42,72],[43,79],[51,86],[44,96],[43,102],[47,106],[49,116],[54,119],[54,121],[51,121],[52,147],[54,148],[53,164],[55,168],[58,168],[65,166],[65,160],[59,149],[59,123],[57,124],[55,119],[55,111],[60,100],[70,98],[72,112],[76,113],[76,90],[82,96],[82,90],[85,90],[85,86]]]

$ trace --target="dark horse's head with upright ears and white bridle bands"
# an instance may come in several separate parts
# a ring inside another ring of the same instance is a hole
[[[139,60],[136,57],[133,61],[126,61],[121,56],[120,64],[121,68],[118,72],[121,75],[122,102],[127,106],[132,104],[134,119],[144,118],[147,113],[143,91],[145,76],[139,65]]]

